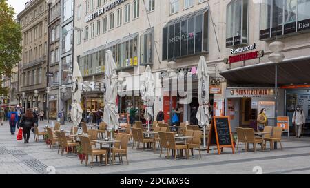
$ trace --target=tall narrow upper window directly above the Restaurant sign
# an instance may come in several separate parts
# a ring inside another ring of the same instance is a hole
[[[226,8],[226,47],[247,44],[248,1],[234,0]]]

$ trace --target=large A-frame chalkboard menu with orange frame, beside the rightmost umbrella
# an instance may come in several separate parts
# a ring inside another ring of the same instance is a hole
[[[231,147],[234,153],[229,116],[214,116],[209,134],[208,152],[211,145],[218,147],[218,154],[223,151],[223,147]]]

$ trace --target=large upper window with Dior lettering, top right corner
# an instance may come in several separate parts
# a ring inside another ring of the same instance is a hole
[[[310,0],[262,1],[260,4],[260,40],[309,30],[309,8]]]

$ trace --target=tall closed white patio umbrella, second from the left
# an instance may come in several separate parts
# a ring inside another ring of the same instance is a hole
[[[111,50],[105,53],[105,109],[103,112],[103,121],[107,123],[107,130],[118,129],[118,109],[116,105],[117,98],[117,74],[116,64]],[[111,134],[112,138],[112,134]]]

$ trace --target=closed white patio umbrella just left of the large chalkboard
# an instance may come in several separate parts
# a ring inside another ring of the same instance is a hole
[[[197,68],[198,76],[198,111],[196,118],[198,125],[203,126],[203,147],[205,145],[205,126],[209,124],[209,75],[205,56],[200,56]]]

